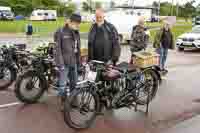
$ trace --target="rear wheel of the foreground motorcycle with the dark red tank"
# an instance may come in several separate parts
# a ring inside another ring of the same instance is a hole
[[[141,84],[143,84],[142,87],[136,90],[136,102],[139,105],[145,105],[151,102],[157,93],[159,85],[157,74],[151,69],[144,70],[136,81],[136,87]]]

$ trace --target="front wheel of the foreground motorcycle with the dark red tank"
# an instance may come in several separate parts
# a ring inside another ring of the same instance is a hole
[[[65,101],[64,120],[74,129],[89,128],[100,110],[99,98],[85,89],[75,90]]]

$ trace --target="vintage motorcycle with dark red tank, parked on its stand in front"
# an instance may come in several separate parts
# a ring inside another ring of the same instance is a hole
[[[78,83],[65,101],[66,124],[75,129],[89,128],[104,109],[134,107],[137,111],[138,105],[146,105],[148,114],[159,84],[153,67],[140,69],[128,63],[107,67],[100,61],[92,61],[89,66],[87,80]]]

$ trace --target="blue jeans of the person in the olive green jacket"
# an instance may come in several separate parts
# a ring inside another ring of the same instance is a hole
[[[167,61],[167,56],[168,56],[168,49],[167,48],[158,48],[157,53],[160,55],[160,62],[159,62],[159,66],[161,70],[165,69],[165,63]]]

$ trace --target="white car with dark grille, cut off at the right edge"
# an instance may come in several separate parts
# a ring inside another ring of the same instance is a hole
[[[200,48],[200,26],[195,26],[191,32],[178,37],[176,46],[179,51],[188,48]]]

